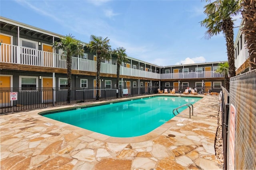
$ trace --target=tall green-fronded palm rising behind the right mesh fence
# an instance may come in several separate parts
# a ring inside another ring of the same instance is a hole
[[[206,0],[207,1],[207,0]],[[206,39],[218,35],[221,31],[226,39],[228,53],[229,76],[236,76],[234,59],[234,22],[232,16],[236,16],[240,10],[240,0],[216,0],[204,6],[206,18],[201,21],[201,26],[207,28]],[[229,88],[226,87],[226,88]]]

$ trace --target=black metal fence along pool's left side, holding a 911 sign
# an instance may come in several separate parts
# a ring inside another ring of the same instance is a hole
[[[130,97],[143,94],[153,94],[157,87],[126,87],[118,89],[118,97]],[[30,109],[45,108],[82,102],[96,101],[99,91],[100,101],[116,98],[116,88],[71,88],[70,103],[67,103],[68,90],[59,88],[37,88],[24,90],[22,88],[0,89],[0,114]]]

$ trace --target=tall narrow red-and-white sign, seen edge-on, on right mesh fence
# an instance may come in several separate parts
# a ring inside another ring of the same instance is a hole
[[[230,170],[235,169],[235,132],[236,132],[236,108],[233,104],[230,104],[229,113],[229,154],[228,154],[228,166]]]

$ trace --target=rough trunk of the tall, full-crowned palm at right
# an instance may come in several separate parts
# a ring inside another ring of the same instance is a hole
[[[228,18],[222,23],[222,30],[226,39],[226,47],[228,53],[228,64],[229,70],[228,74],[230,77],[236,76],[236,68],[235,68],[235,57],[234,57],[234,23],[231,18]],[[229,84],[226,89],[229,89]],[[229,91],[229,90],[228,90]]]

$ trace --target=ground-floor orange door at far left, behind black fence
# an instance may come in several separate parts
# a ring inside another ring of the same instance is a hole
[[[0,76],[0,106],[11,106],[10,101],[11,77]]]

